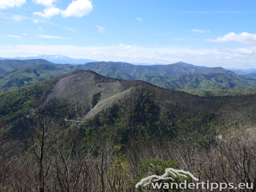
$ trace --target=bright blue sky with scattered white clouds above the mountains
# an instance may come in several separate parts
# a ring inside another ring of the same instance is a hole
[[[256,68],[255,0],[0,0],[0,57]]]

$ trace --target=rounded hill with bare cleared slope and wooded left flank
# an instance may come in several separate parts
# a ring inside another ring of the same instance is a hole
[[[28,124],[31,123],[29,114],[39,106],[48,106],[45,112],[53,114],[54,118],[61,117],[58,119],[60,121],[71,117],[70,114],[75,119],[83,118],[92,108],[94,94],[101,93],[97,100],[99,102],[130,86],[132,84],[100,76],[92,71],[71,72],[69,75],[0,93],[0,121],[9,122],[13,134],[25,138]],[[111,100],[108,105],[116,101]]]

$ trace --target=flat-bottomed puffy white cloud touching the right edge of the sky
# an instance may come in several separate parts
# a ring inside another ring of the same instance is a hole
[[[240,44],[256,44],[256,34],[243,32],[240,34],[228,33],[223,37],[217,37],[216,39],[205,39],[208,42],[237,42]]]

